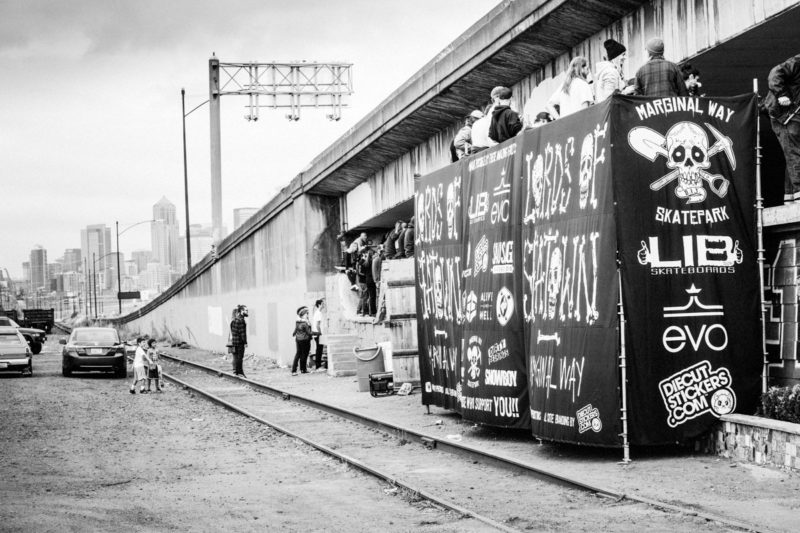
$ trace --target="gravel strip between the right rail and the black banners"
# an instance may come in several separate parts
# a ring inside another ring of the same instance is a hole
[[[163,350],[226,372],[231,369],[223,354],[195,348]],[[800,531],[800,475],[795,472],[678,447],[634,448],[633,462],[622,466],[619,449],[539,443],[527,432],[476,426],[437,407],[431,407],[428,414],[418,393],[372,398],[369,393],[357,392],[355,377],[333,378],[322,373],[293,377],[288,369],[252,354],[246,354],[244,369],[249,378],[292,394],[439,438],[453,438],[591,485],[756,524],[764,530]]]

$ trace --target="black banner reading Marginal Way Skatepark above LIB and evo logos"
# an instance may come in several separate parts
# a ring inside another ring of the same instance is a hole
[[[755,408],[755,98],[615,98],[613,168],[634,444]]]

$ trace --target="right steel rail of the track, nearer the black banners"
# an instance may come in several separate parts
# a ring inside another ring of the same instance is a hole
[[[599,496],[611,498],[617,502],[628,500],[631,502],[641,503],[647,505],[649,507],[653,507],[656,509],[666,509],[672,512],[685,514],[688,516],[697,516],[699,518],[703,518],[710,522],[719,522],[725,526],[733,527],[737,529],[743,529],[745,531],[755,531],[755,532],[764,532],[764,533],[776,533],[775,530],[764,528],[763,526],[752,524],[749,522],[744,522],[732,518],[727,518],[723,516],[719,516],[713,513],[709,513],[706,511],[700,511],[697,509],[693,509],[691,507],[682,507],[680,505],[674,505],[667,502],[662,502],[659,500],[655,500],[652,498],[647,498],[644,496],[636,496],[626,494],[624,492],[619,492],[613,489],[609,489],[607,487],[601,487],[598,485],[594,485],[588,482],[581,481],[575,477],[565,476],[559,474],[557,472],[550,471],[545,468],[541,468],[535,465],[531,465],[529,463],[525,463],[522,461],[518,461],[516,459],[512,459],[510,457],[505,457],[502,455],[495,455],[474,446],[470,446],[468,444],[457,443],[457,442],[450,442],[447,440],[443,440],[441,438],[428,435],[425,433],[421,433],[414,429],[405,428],[399,425],[395,425],[383,420],[378,420],[376,418],[369,417],[367,415],[362,415],[359,413],[355,413],[353,411],[348,411],[346,409],[342,409],[339,407],[335,407],[332,405],[324,404],[313,400],[311,398],[307,398],[301,396],[299,394],[290,393],[283,391],[281,389],[266,385],[264,383],[259,383],[258,381],[253,381],[249,378],[242,378],[235,376],[229,372],[225,372],[223,370],[219,370],[217,368],[212,368],[210,366],[204,365],[202,363],[197,363],[195,361],[189,361],[186,359],[181,359],[180,357],[176,357],[171,354],[167,354],[164,352],[159,352],[161,356],[166,359],[170,359],[175,361],[179,365],[189,365],[195,368],[199,368],[205,372],[209,372],[212,374],[216,374],[219,377],[223,377],[230,381],[239,382],[239,383],[246,383],[249,386],[257,389],[258,391],[265,392],[272,396],[282,398],[284,400],[293,401],[301,405],[305,405],[307,407],[311,407],[317,410],[325,411],[327,413],[339,416],[341,418],[345,418],[352,422],[356,422],[368,427],[372,427],[375,429],[379,429],[382,431],[386,431],[387,433],[396,435],[398,437],[402,437],[408,441],[414,441],[417,443],[422,443],[425,446],[436,448],[438,450],[446,451],[448,453],[454,453],[457,455],[462,455],[465,457],[469,457],[471,459],[481,459],[482,461],[499,466],[501,468],[509,468],[514,471],[523,471],[528,475],[531,475],[537,479],[541,479],[544,481],[548,481],[551,483],[557,483],[562,486],[567,486],[571,488],[577,488],[583,491],[591,492],[597,494]]]

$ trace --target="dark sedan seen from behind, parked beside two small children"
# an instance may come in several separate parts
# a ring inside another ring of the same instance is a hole
[[[125,344],[119,340],[114,328],[75,328],[69,339],[61,339],[61,373],[103,370],[114,372],[116,377],[128,375]]]

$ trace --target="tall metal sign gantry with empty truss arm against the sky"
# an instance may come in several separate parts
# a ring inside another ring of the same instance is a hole
[[[288,109],[291,121],[300,119],[300,108],[330,108],[329,120],[339,120],[353,94],[352,63],[274,61],[270,63],[221,63],[208,60],[211,115],[211,225],[215,243],[222,238],[222,150],[220,97],[249,97],[245,119],[258,120],[259,109]]]

